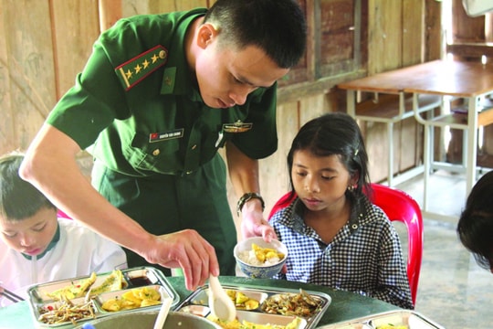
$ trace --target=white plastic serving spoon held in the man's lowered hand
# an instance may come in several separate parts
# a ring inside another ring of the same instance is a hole
[[[236,319],[235,303],[229,298],[215,276],[209,276],[209,307],[211,313],[223,321]]]

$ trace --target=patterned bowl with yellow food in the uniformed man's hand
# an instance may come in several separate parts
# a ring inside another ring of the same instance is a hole
[[[273,239],[262,237],[243,239],[233,250],[239,269],[250,278],[268,279],[281,271],[288,257],[288,248]]]

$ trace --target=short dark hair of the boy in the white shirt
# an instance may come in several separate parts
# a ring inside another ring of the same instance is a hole
[[[23,160],[24,154],[17,152],[0,157],[0,216],[7,220],[30,218],[43,207],[56,208],[35,186],[19,176]]]

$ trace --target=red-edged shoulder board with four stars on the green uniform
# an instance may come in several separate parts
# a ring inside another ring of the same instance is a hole
[[[144,51],[115,69],[125,90],[130,90],[154,70],[159,69],[168,60],[168,50],[161,45]]]

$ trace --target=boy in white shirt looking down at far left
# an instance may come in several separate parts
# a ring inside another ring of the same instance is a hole
[[[0,157],[0,281],[26,298],[27,287],[125,269],[120,246],[75,220],[58,218],[58,209],[18,175],[23,154]],[[0,304],[6,304],[0,294]]]

